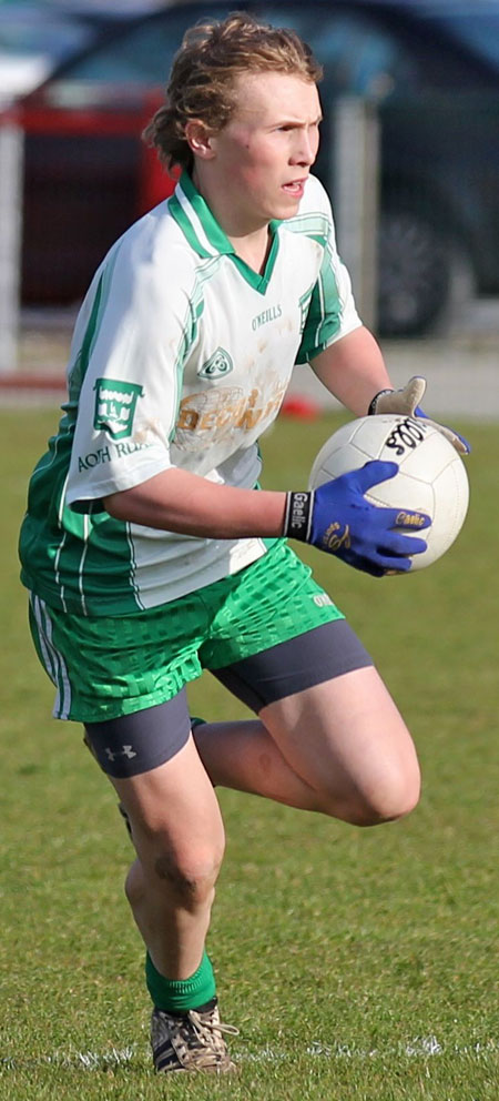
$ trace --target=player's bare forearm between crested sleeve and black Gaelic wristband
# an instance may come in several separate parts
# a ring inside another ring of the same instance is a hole
[[[216,485],[177,467],[105,497],[116,519],[215,539],[282,535],[285,493]]]

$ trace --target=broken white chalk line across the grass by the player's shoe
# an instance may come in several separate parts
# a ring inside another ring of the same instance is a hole
[[[144,1049],[145,1050],[145,1049]],[[304,1053],[314,1059],[352,1059],[352,1060],[365,1060],[365,1059],[376,1059],[376,1058],[397,1058],[410,1057],[413,1059],[425,1059],[451,1054],[451,1055],[471,1055],[477,1061],[482,1057],[487,1057],[492,1052],[499,1051],[499,1042],[497,1040],[487,1040],[485,1043],[465,1043],[465,1044],[445,1044],[437,1040],[436,1036],[428,1037],[415,1037],[409,1043],[399,1043],[395,1047],[387,1048],[373,1048],[363,1049],[357,1048],[355,1044],[348,1043],[334,1043],[327,1044],[319,1040],[313,1041],[308,1044]],[[149,1047],[147,1047],[149,1052]],[[42,1065],[50,1064],[53,1067],[62,1068],[77,1068],[80,1067],[83,1070],[94,1071],[94,1070],[106,1070],[112,1067],[123,1067],[128,1063],[133,1062],[134,1058],[140,1054],[139,1044],[128,1044],[125,1048],[111,1048],[109,1051],[71,1051],[61,1052],[55,1051],[52,1055],[41,1057],[39,1059],[17,1059],[16,1057],[0,1058],[0,1071],[1,1070],[20,1070],[22,1067],[33,1064]],[[279,1050],[278,1048],[262,1048],[261,1051],[256,1052],[245,1052],[233,1050],[234,1058],[240,1062],[253,1062],[253,1063],[278,1063],[278,1062],[289,1062],[294,1057],[291,1052]]]

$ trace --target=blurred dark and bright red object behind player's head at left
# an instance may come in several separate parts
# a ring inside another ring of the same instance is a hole
[[[175,180],[141,140],[162,102],[157,89],[128,109],[19,107],[24,304],[81,301],[108,249],[172,194]]]

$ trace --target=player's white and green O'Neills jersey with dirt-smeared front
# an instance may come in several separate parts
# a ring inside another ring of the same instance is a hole
[[[22,579],[49,605],[128,615],[265,553],[263,539],[123,523],[102,498],[172,466],[254,487],[257,440],[294,364],[360,324],[316,179],[298,214],[271,232],[259,275],[184,173],[95,273],[71,345],[65,415],[33,472],[21,532]]]

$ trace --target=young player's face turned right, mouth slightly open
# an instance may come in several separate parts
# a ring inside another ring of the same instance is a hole
[[[318,149],[320,103],[315,84],[281,73],[237,78],[237,104],[212,139],[218,183],[241,228],[296,214]]]

